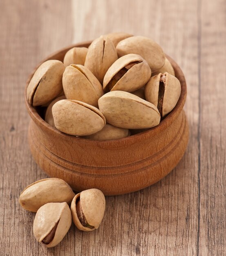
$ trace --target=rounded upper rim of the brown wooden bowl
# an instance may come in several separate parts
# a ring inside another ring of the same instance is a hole
[[[117,144],[128,144],[128,142],[136,143],[136,142],[144,140],[144,139],[150,139],[151,137],[153,137],[156,134],[165,130],[168,126],[170,126],[173,123],[173,121],[175,121],[175,119],[177,119],[177,117],[181,113],[181,111],[184,107],[184,103],[186,101],[186,94],[187,94],[186,80],[185,80],[184,74],[183,74],[181,68],[179,67],[179,65],[170,56],[165,54],[166,58],[168,58],[168,60],[170,61],[170,63],[173,66],[173,69],[175,71],[175,76],[180,81],[181,94],[180,94],[180,97],[177,101],[176,106],[173,108],[173,110],[162,121],[160,121],[160,124],[158,124],[157,126],[155,126],[153,128],[150,128],[150,129],[148,129],[144,132],[140,132],[140,133],[137,133],[135,135],[131,135],[131,136],[128,136],[128,137],[125,137],[125,138],[122,138],[122,139],[93,140],[93,139],[85,139],[85,138],[82,138],[82,137],[76,137],[76,136],[73,136],[73,135],[68,135],[64,132],[61,132],[60,130],[57,130],[56,128],[53,128],[46,121],[44,121],[44,119],[42,119],[42,117],[38,114],[37,110],[27,100],[27,87],[28,87],[28,85],[31,81],[31,78],[33,77],[33,74],[35,73],[37,68],[43,62],[51,60],[51,59],[56,59],[56,58],[54,58],[54,56],[56,56],[58,54],[62,54],[63,52],[66,53],[69,49],[71,49],[73,47],[88,47],[91,44],[91,42],[92,41],[85,41],[85,42],[69,45],[67,47],[64,47],[64,48],[56,51],[56,52],[53,52],[52,54],[50,54],[49,56],[44,58],[42,61],[40,61],[40,63],[38,63],[38,65],[36,65],[36,67],[33,69],[31,74],[29,75],[29,77],[26,81],[25,90],[24,90],[25,104],[26,104],[27,112],[29,113],[31,119],[35,122],[35,124],[38,127],[40,127],[45,132],[51,133],[51,135],[53,135],[55,137],[61,137],[62,139],[65,139],[65,140],[73,138],[73,140],[76,140],[78,142],[79,141],[83,141],[83,142],[85,141],[86,144],[92,144],[92,145],[97,145],[97,146],[101,146],[103,144],[112,144],[112,146],[113,146],[115,143],[117,143]]]

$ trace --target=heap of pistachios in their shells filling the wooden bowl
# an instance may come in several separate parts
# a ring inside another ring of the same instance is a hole
[[[64,63],[49,60],[27,88],[33,106],[61,132],[120,139],[160,124],[176,106],[181,85],[160,45],[144,36],[111,33],[89,48],[74,47]]]

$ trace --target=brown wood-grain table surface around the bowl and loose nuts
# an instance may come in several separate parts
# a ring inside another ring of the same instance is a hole
[[[100,228],[71,226],[47,249],[35,217],[18,203],[47,175],[27,141],[24,85],[48,54],[111,31],[153,38],[182,68],[188,86],[188,148],[163,180],[106,197]],[[226,255],[225,0],[0,2],[0,255]]]

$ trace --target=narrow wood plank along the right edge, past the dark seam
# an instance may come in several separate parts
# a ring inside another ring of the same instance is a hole
[[[224,0],[199,7],[200,255],[226,255],[225,8]]]

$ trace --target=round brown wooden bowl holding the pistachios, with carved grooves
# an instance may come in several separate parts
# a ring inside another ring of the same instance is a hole
[[[63,61],[71,47],[88,47],[91,42],[71,45],[44,61]],[[31,116],[28,138],[36,163],[50,177],[65,180],[75,191],[97,188],[104,195],[119,195],[143,189],[161,180],[179,162],[188,143],[188,123],[183,111],[186,81],[179,66],[167,56],[181,83],[181,95],[173,111],[158,126],[145,132],[108,141],[94,141],[67,135],[49,126],[43,109],[31,106],[27,86],[25,101]]]

